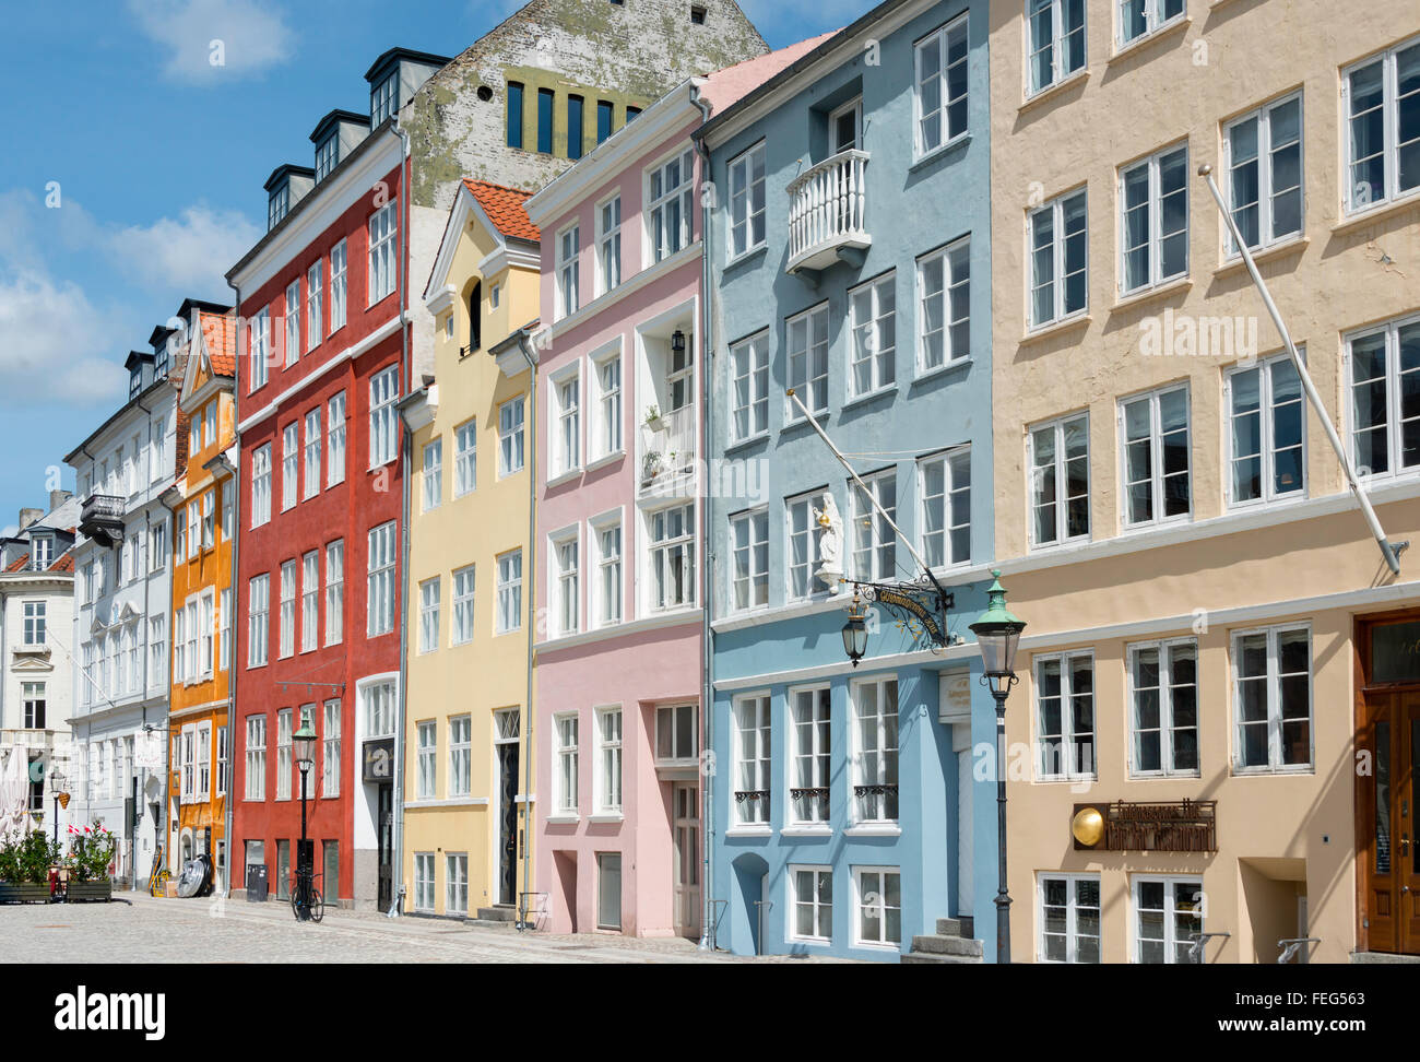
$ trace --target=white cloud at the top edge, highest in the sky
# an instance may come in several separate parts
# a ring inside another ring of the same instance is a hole
[[[217,84],[294,51],[285,14],[267,0],[128,0],[128,10],[166,50],[165,72],[175,81]]]

